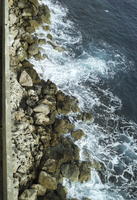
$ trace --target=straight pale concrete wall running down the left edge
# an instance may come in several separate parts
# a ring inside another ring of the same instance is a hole
[[[3,0],[3,57],[2,57],[2,91],[3,91],[3,200],[14,200],[13,171],[11,148],[11,117],[10,117],[10,67],[9,67],[9,27],[8,27],[8,0]],[[1,4],[1,5],[2,5]]]

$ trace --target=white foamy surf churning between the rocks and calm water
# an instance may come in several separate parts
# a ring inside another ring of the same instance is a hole
[[[58,52],[50,44],[43,45],[42,52],[48,59],[31,59],[41,78],[50,79],[67,94],[76,96],[83,111],[94,114],[93,123],[75,121],[86,137],[76,144],[80,148],[81,160],[95,160],[104,165],[104,180],[95,169],[87,183],[72,183],[64,179],[70,198],[82,200],[125,200],[134,199],[130,191],[135,184],[137,148],[135,132],[137,125],[116,112],[122,107],[121,100],[105,88],[102,80],[113,79],[119,71],[130,70],[124,55],[104,43],[100,49],[95,43],[87,49],[82,47],[81,33],[67,19],[67,8],[59,2],[42,0],[51,10],[53,42],[65,48]],[[45,38],[47,31],[40,28],[39,38]],[[81,49],[76,55],[75,48]],[[73,120],[73,116],[70,116]]]

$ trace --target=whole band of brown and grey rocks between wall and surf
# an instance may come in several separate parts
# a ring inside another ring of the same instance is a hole
[[[52,42],[51,34],[45,39],[34,34],[40,26],[50,30],[48,6],[38,0],[9,0],[9,6],[14,196],[19,200],[66,200],[63,178],[88,181],[93,167],[91,162],[80,161],[74,141],[85,133],[75,129],[68,114],[77,113],[77,120],[83,121],[92,120],[92,115],[81,112],[78,100],[50,80],[40,80],[29,62],[31,57],[46,58],[40,52],[43,43],[63,50]]]

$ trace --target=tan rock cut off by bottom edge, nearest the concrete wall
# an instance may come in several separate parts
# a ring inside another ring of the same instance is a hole
[[[37,200],[37,191],[34,189],[25,190],[20,195],[19,200]]]

